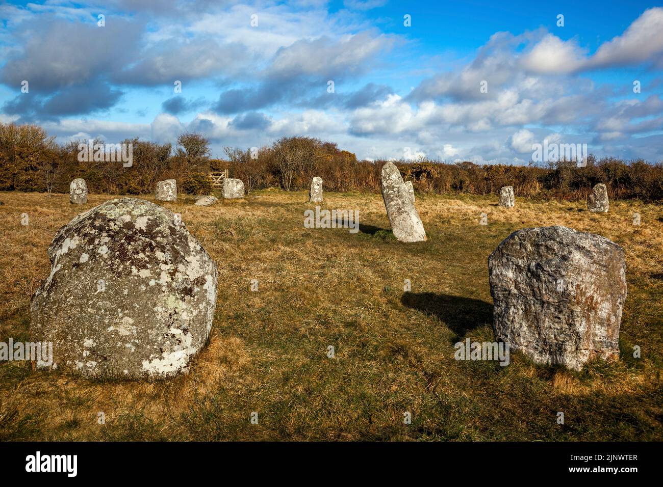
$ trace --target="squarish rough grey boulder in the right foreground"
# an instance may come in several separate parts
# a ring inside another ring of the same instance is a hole
[[[567,227],[518,230],[488,258],[495,337],[536,363],[579,370],[619,357],[624,250]]]

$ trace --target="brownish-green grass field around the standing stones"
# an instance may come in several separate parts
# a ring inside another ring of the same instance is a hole
[[[0,193],[0,341],[29,339],[48,244],[106,199],[74,207],[68,195]],[[267,190],[213,207],[165,203],[219,264],[210,341],[189,374],[102,382],[0,362],[0,440],[663,440],[660,205],[611,201],[595,214],[584,202],[516,197],[503,209],[496,197],[417,195],[428,241],[400,244],[379,194],[325,194],[323,207],[359,210],[354,235],[304,228],[307,201]],[[454,360],[465,337],[493,341],[488,255],[512,231],[544,225],[625,248],[621,359],[581,372],[517,352],[509,366]]]

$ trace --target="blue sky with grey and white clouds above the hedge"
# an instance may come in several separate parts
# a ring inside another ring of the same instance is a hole
[[[525,164],[547,139],[663,160],[655,3],[57,0],[3,3],[0,23],[0,121],[60,142],[197,131],[222,157],[306,135]]]

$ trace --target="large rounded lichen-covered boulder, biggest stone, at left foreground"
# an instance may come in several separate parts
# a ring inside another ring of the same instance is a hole
[[[113,199],[58,231],[30,306],[32,340],[53,344],[52,368],[135,379],[188,369],[210,335],[217,268],[178,216]]]

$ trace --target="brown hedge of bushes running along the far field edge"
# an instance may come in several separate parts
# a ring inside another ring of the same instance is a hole
[[[88,142],[86,140],[82,142]],[[326,191],[380,191],[385,160],[357,160],[332,142],[312,137],[283,137],[271,146],[225,147],[227,160],[211,159],[209,141],[202,135],[180,135],[177,145],[124,140],[133,144],[133,164],[80,162],[78,142],[56,144],[40,127],[0,123],[0,190],[69,190],[74,178],[84,178],[93,193],[152,193],[160,180],[175,179],[189,193],[209,193],[205,175],[229,170],[247,191],[278,187],[310,188],[320,176]],[[507,166],[472,162],[454,164],[435,160],[396,161],[405,180],[421,193],[497,194],[513,186],[516,196],[583,199],[597,183],[604,183],[612,198],[663,199],[663,164],[644,160],[625,162],[589,155],[587,166],[556,162],[546,166]]]

